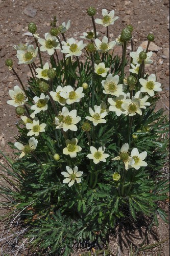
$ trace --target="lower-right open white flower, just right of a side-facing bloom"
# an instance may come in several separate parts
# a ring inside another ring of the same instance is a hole
[[[147,152],[143,151],[142,153],[139,154],[139,151],[137,148],[133,148],[131,152],[131,157],[133,159],[133,162],[130,163],[130,165],[138,170],[141,166],[147,166],[147,162],[144,162],[143,160],[147,157]],[[131,160],[132,161],[132,160]]]

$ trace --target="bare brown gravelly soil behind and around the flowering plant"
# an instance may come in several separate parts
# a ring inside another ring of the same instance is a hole
[[[119,17],[115,24],[109,27],[110,40],[115,39],[122,29],[132,24],[134,27],[133,39],[134,50],[147,40],[149,33],[155,34],[153,63],[146,68],[146,72],[156,73],[157,80],[163,84],[163,90],[159,94],[160,100],[157,109],[163,108],[169,114],[169,1],[168,0],[131,0],[131,1],[110,1],[110,0],[0,0],[0,148],[3,152],[11,154],[8,141],[14,141],[17,135],[15,124],[18,118],[15,115],[13,106],[7,104],[9,89],[12,89],[18,81],[15,75],[5,67],[5,60],[12,58],[14,69],[19,74],[23,84],[27,86],[27,79],[31,76],[28,66],[18,66],[15,57],[16,50],[13,45],[20,42],[30,44],[33,38],[24,33],[28,32],[28,24],[34,21],[37,24],[39,36],[44,37],[45,32],[49,32],[50,23],[54,16],[57,16],[58,25],[71,19],[71,27],[66,33],[66,37],[74,37],[80,40],[83,32],[92,29],[90,17],[86,14],[89,6],[94,6],[97,10],[96,16],[101,17],[102,8],[115,10],[115,15]],[[31,12],[31,14],[29,13]],[[32,15],[35,17],[30,17]],[[106,29],[101,25],[96,25],[97,31],[102,36],[106,34]],[[129,45],[130,47],[130,45]],[[130,49],[130,48],[128,48]],[[115,54],[121,54],[122,48],[116,46]],[[127,50],[130,53],[130,50]],[[47,60],[46,53],[43,54],[44,63]],[[36,62],[38,64],[38,60]],[[3,161],[0,157],[0,161]],[[167,225],[160,222],[159,239],[163,240],[167,236]],[[133,243],[133,236],[126,246]],[[131,241],[131,242],[130,242]],[[142,238],[139,236],[139,241]],[[157,241],[155,239],[155,241]],[[140,243],[139,242],[139,243]],[[124,248],[126,247],[124,246]],[[168,247],[167,247],[168,248]],[[169,255],[166,247],[162,254]],[[128,255],[128,254],[124,254]],[[156,255],[156,254],[147,254]]]

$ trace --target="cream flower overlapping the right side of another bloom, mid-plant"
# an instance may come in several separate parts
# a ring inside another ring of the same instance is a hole
[[[66,99],[66,103],[68,105],[79,102],[81,98],[84,97],[83,87],[79,87],[74,91],[74,89],[71,86],[65,87],[65,92],[60,92],[60,96]]]

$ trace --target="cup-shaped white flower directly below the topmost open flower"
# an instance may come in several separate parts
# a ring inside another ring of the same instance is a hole
[[[94,40],[95,42],[95,46],[96,46],[96,49],[99,51],[99,52],[109,52],[113,49],[113,47],[116,45],[116,42],[115,41],[111,41],[108,43],[108,38],[107,36],[104,36],[102,41],[99,40],[98,38],[96,38]]]

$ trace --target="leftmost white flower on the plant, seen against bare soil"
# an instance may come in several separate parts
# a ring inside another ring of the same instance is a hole
[[[25,93],[19,88],[14,86],[14,90],[9,90],[9,95],[12,99],[8,100],[7,103],[12,106],[21,106],[28,100],[25,99]]]

